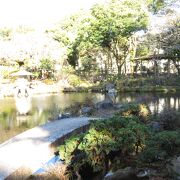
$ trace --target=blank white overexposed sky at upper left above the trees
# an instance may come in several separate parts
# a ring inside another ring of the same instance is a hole
[[[43,28],[105,0],[0,0],[0,27]]]

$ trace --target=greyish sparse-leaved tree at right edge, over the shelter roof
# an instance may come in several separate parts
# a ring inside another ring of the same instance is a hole
[[[172,70],[172,65],[174,65],[175,71],[180,74],[180,24],[179,16],[176,14],[170,14],[165,16],[167,22],[159,29],[158,32],[153,33],[149,31],[144,38],[143,43],[148,47],[149,53],[147,58],[144,60],[153,60],[154,64],[160,62],[161,60],[167,60],[165,71],[170,73]],[[141,54],[137,54],[139,57]],[[143,58],[139,58],[143,59]],[[171,69],[170,69],[171,68]],[[157,69],[157,68],[156,68]]]

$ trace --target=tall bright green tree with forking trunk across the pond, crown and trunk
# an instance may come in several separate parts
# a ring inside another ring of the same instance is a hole
[[[94,6],[89,23],[85,22],[85,32],[79,36],[81,48],[84,42],[101,48],[106,54],[107,65],[115,63],[118,74],[121,74],[122,66],[133,55],[133,34],[148,24],[147,11],[141,3],[115,0]]]

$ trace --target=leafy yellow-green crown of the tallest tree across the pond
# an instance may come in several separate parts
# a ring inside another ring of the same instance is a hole
[[[124,44],[133,32],[147,25],[147,15],[139,1],[115,0],[102,6],[94,6],[91,13],[94,17],[90,24],[90,30],[94,30],[93,40],[102,47],[109,47],[110,43],[119,38]]]

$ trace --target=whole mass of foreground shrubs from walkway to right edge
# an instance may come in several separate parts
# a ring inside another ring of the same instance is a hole
[[[140,119],[143,116],[141,106],[146,107],[142,104],[124,105],[120,113],[123,116],[117,114],[110,119],[92,120],[86,133],[66,140],[59,152],[68,164],[67,173],[81,174],[86,168],[91,173],[99,173],[116,169],[116,165],[118,168],[157,166],[178,156],[180,131],[153,131]]]

